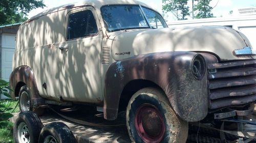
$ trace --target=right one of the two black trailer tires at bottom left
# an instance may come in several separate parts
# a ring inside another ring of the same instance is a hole
[[[39,135],[39,143],[75,143],[76,138],[70,128],[62,122],[53,122],[42,128]]]

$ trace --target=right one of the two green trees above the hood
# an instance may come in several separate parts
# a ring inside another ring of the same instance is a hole
[[[212,7],[209,6],[211,0],[200,0],[196,5],[195,11],[198,11],[196,18],[214,17],[211,13]]]

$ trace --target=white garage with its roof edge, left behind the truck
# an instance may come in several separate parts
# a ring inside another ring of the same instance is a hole
[[[19,25],[20,23],[0,26],[0,72],[1,78],[6,81],[9,81],[12,72],[12,55]]]

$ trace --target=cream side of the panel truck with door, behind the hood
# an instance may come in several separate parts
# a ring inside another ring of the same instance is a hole
[[[74,12],[90,9],[75,8]],[[42,97],[101,103],[100,54],[102,30],[97,13],[98,35],[66,41],[68,10],[57,11],[20,26],[13,69],[32,68]],[[58,47],[68,47],[60,50]],[[47,83],[47,90],[42,84]]]

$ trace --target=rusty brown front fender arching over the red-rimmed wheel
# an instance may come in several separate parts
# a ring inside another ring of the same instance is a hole
[[[192,62],[196,55],[200,54],[158,52],[113,63],[105,78],[104,118],[115,120],[125,85],[135,79],[144,79],[156,83],[165,92],[181,119],[187,122],[204,119],[208,112],[207,75],[200,79],[193,75]]]

